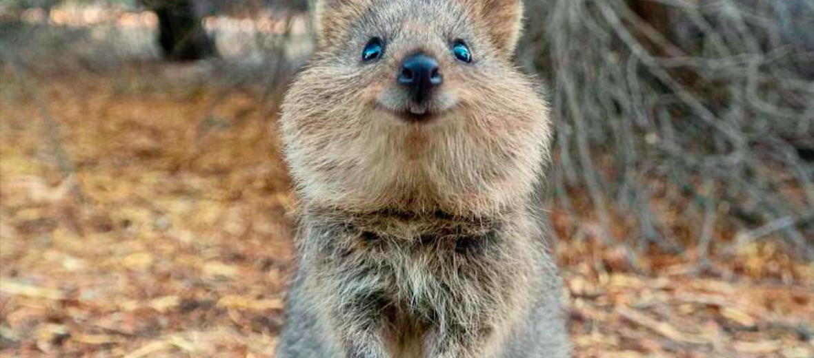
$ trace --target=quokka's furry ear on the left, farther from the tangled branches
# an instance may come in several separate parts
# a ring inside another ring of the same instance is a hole
[[[352,22],[361,17],[368,1],[365,0],[316,0],[314,6],[317,45],[320,48],[334,43]]]

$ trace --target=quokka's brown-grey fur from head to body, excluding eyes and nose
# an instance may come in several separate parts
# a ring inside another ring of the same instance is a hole
[[[534,209],[548,110],[511,63],[521,14],[520,0],[317,2],[317,53],[282,107],[301,209],[277,358],[569,356]],[[364,62],[373,37],[383,54]],[[421,108],[395,80],[418,53],[444,80]]]

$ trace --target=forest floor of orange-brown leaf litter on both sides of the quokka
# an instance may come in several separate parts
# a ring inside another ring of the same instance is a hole
[[[275,110],[200,68],[2,64],[0,356],[273,356],[296,205]],[[632,270],[552,210],[575,357],[814,356],[811,262],[760,241]]]

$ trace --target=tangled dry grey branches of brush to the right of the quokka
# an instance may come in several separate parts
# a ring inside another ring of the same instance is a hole
[[[777,239],[814,258],[814,2],[537,0],[527,18],[559,207],[588,202],[634,248]]]

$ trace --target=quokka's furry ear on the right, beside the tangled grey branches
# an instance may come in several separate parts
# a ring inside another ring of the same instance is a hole
[[[511,57],[523,29],[523,0],[470,0],[478,4],[480,18],[501,54]]]

